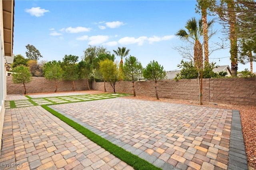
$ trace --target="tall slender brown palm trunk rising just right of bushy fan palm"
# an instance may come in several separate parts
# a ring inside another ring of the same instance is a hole
[[[207,12],[206,8],[202,6],[202,27],[204,34],[204,63],[209,63],[209,49],[208,49],[208,23],[207,23]]]

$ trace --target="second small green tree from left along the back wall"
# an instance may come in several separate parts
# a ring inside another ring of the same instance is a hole
[[[60,62],[53,60],[45,63],[43,66],[43,74],[47,80],[55,81],[56,89],[54,93],[56,93],[58,90],[57,81],[62,79],[62,69],[60,67]]]

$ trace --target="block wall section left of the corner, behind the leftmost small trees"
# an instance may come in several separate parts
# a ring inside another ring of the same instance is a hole
[[[23,94],[23,84],[14,84],[12,82],[12,76],[6,76],[7,81],[7,94]],[[87,80],[76,80],[74,81],[76,91],[88,90]],[[90,82],[89,82],[90,83]],[[57,81],[58,91],[73,91],[72,81]],[[43,92],[54,92],[55,81],[48,81],[44,77],[33,77],[31,83],[25,84],[27,93],[43,93]],[[91,83],[89,84],[91,86]],[[90,87],[91,88],[91,87]]]

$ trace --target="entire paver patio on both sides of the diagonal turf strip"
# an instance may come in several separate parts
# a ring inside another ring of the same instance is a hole
[[[247,168],[236,111],[125,98],[49,107],[163,169]],[[7,109],[3,134],[1,165],[132,169],[40,106]]]

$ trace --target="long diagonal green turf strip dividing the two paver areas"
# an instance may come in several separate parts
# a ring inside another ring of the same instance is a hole
[[[126,162],[130,166],[132,166],[136,170],[161,170],[162,168],[158,168],[151,164],[150,162],[132,154],[131,152],[128,152],[124,150],[123,148],[116,146],[115,144],[112,144],[110,141],[106,140],[105,138],[102,138],[101,136],[95,134],[94,132],[91,132],[87,128],[83,127],[82,125],[79,125],[78,123],[72,121],[71,119],[68,119],[64,115],[58,113],[57,111],[54,111],[47,105],[42,105],[42,108],[44,108],[46,111],[52,113],[54,116],[58,117],[60,120],[64,121],[71,127],[75,128],[78,132],[82,133],[84,136],[119,158],[120,160]]]

